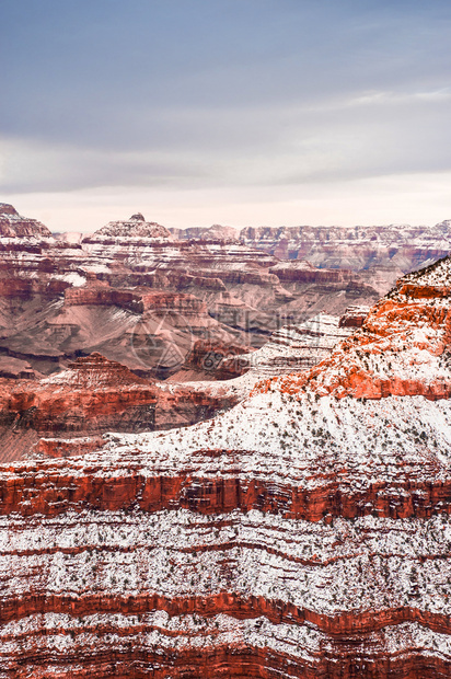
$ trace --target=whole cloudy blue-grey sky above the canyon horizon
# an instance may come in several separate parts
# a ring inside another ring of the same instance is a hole
[[[54,231],[451,219],[449,0],[1,0],[0,67]]]

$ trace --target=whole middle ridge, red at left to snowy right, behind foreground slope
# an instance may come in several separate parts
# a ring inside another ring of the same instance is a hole
[[[211,418],[246,398],[262,378],[320,362],[351,332],[338,324],[338,318],[320,314],[280,329],[248,353],[240,345],[197,341],[166,382],[149,382],[99,353],[49,378],[4,357],[10,379],[0,385],[0,462],[80,454],[103,445],[108,431],[167,429]]]

